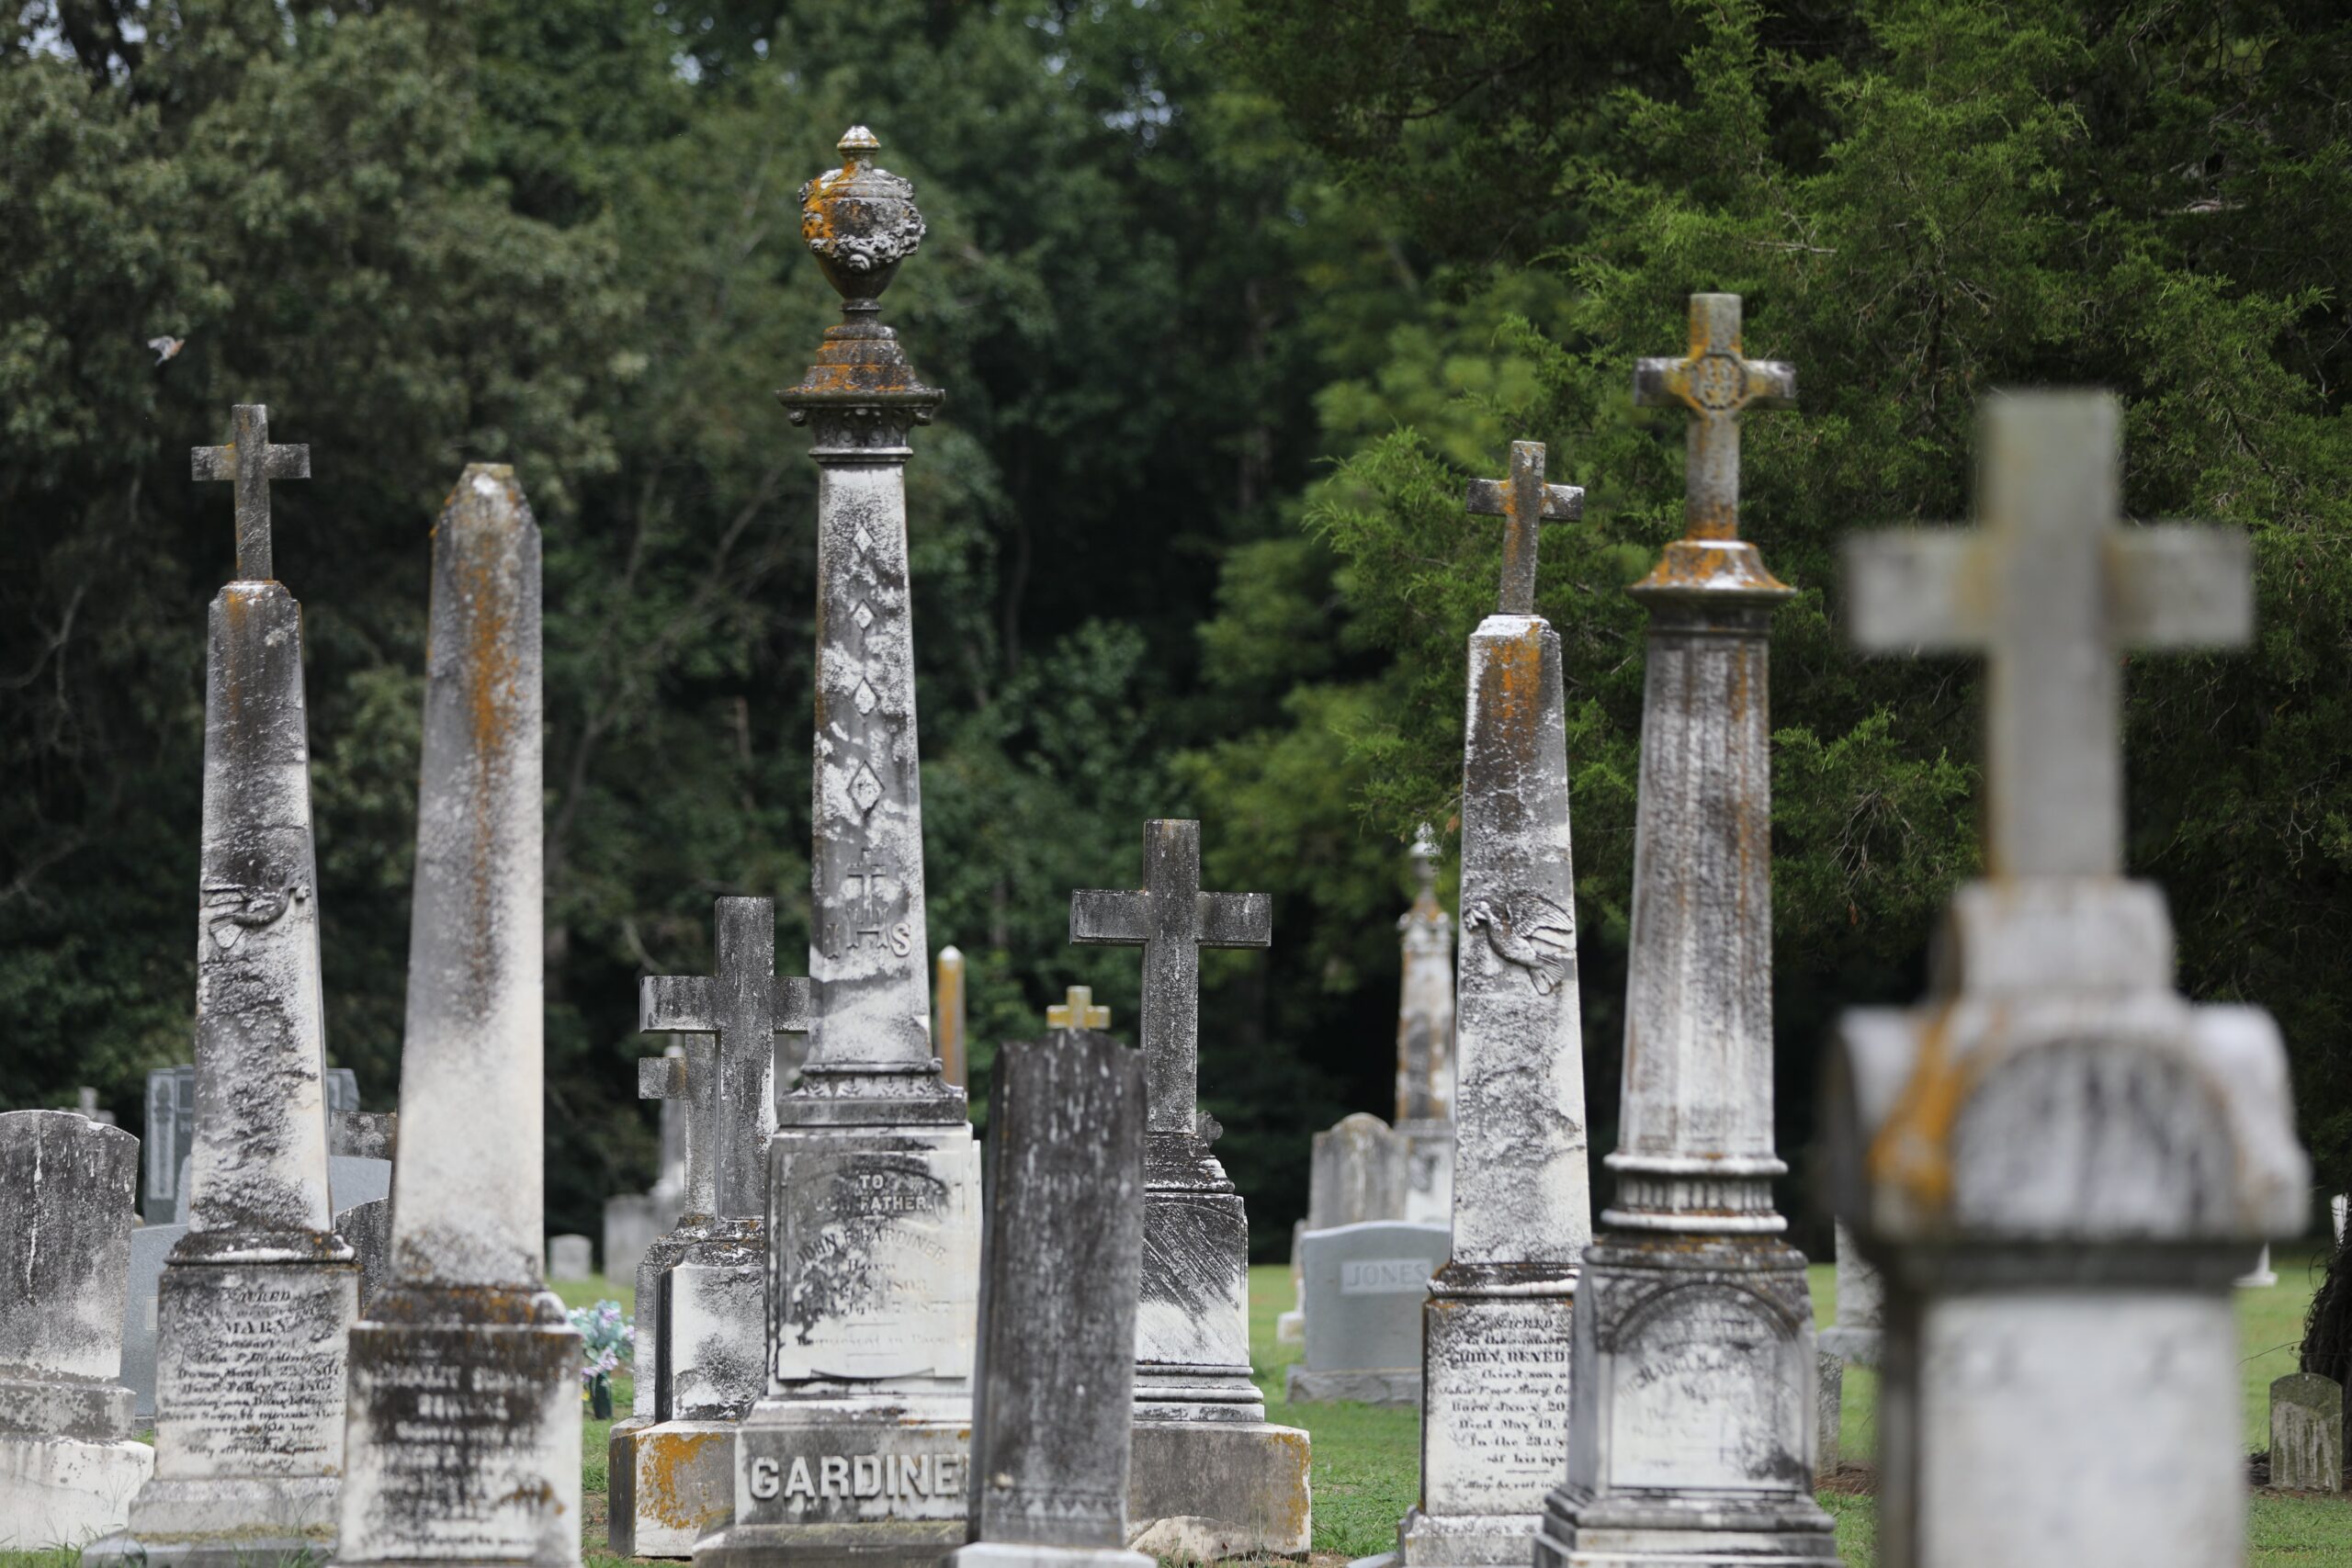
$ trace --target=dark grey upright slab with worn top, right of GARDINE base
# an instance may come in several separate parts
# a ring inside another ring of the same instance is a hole
[[[1108,1034],[997,1056],[971,1544],[953,1568],[1155,1568],[1127,1549],[1143,1121],[1143,1060]]]

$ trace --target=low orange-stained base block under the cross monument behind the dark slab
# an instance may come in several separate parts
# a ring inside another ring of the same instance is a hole
[[[1138,1415],[1127,1544],[1202,1563],[1305,1556],[1312,1544],[1308,1434],[1263,1420]]]

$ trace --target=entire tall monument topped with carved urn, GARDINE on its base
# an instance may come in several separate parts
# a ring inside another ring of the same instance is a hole
[[[931,1563],[964,1537],[981,1161],[931,1048],[906,555],[906,437],[941,393],[877,320],[922,242],[877,146],[854,127],[802,186],[802,237],[842,294],[781,393],[816,435],[816,1004],[769,1145],[767,1394],[736,1429],[736,1521],[694,1554],[710,1568]]]

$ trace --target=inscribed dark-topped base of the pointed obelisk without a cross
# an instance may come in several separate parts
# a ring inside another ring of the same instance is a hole
[[[550,1291],[388,1286],[350,1331],[334,1561],[574,1568],[579,1368]]]

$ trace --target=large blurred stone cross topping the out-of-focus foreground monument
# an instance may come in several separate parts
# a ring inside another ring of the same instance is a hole
[[[1983,651],[1985,867],[2112,877],[2124,863],[2124,649],[2253,632],[2237,529],[2117,527],[2122,404],[2006,393],[1978,416],[1976,531],[1846,545],[1846,614],[1870,651]]]

